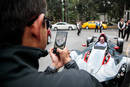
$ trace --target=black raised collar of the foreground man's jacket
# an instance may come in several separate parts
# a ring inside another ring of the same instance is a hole
[[[38,59],[47,56],[46,50],[25,46],[0,46],[0,58],[4,60],[15,60],[20,64],[27,64],[31,67],[39,67]]]

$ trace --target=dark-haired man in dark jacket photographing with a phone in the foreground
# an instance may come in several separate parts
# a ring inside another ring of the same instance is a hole
[[[67,48],[57,49],[58,56],[51,48],[51,65],[38,72],[47,55],[46,0],[0,0],[0,11],[0,87],[102,87]]]

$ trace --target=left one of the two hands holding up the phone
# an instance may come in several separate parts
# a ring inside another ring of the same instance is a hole
[[[52,60],[52,66],[54,66],[56,69],[59,69],[64,66],[63,61],[60,59],[60,57],[53,53],[53,48],[50,49],[49,53]]]

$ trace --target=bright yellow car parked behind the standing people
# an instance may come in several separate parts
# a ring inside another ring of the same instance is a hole
[[[107,24],[102,23],[102,27],[103,27],[103,29],[107,29]],[[96,28],[96,21],[85,22],[85,23],[83,23],[82,28],[95,29]]]

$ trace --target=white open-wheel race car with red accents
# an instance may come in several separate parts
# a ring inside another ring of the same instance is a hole
[[[130,65],[130,59],[120,54],[123,51],[123,40],[117,38],[117,45],[106,40],[106,47],[96,46],[97,42],[94,37],[89,38],[88,47],[82,52],[72,51],[71,58],[76,61],[79,69],[89,72],[104,87],[120,87]]]

